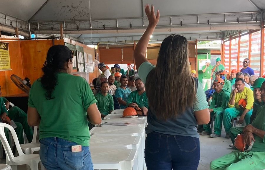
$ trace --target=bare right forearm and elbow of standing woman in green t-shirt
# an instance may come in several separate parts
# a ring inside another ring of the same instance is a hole
[[[93,103],[87,108],[87,119],[94,125],[101,123],[101,114],[97,108],[97,104]]]

